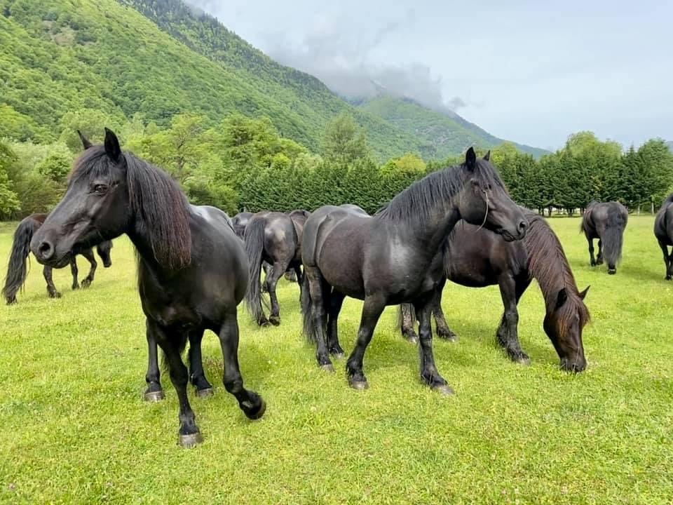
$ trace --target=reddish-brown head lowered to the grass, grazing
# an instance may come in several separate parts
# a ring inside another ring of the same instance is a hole
[[[584,304],[588,290],[587,287],[575,295],[569,294],[566,288],[559,290],[556,303],[548,307],[543,323],[561,358],[561,368],[569,372],[582,372],[587,367],[582,330],[589,321],[589,311]]]

